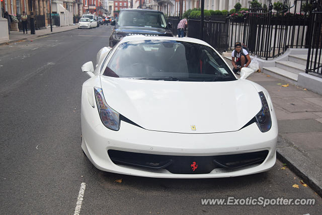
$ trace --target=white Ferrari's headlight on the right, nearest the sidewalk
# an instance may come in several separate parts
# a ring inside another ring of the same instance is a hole
[[[264,93],[259,92],[258,94],[259,94],[259,96],[261,98],[262,109],[255,116],[256,123],[257,123],[259,129],[262,132],[266,132],[269,129],[271,129],[271,127],[272,127],[271,112],[270,112],[270,108],[268,106],[268,103],[267,103],[267,100],[266,100],[266,97],[265,97]]]

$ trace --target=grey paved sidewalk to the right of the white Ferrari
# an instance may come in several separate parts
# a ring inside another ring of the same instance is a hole
[[[248,80],[263,86],[273,101],[277,158],[322,196],[322,95],[264,73],[253,73]]]

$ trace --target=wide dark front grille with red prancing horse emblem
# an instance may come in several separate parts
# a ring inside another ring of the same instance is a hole
[[[268,150],[221,156],[168,156],[108,150],[114,164],[167,169],[174,174],[207,174],[215,168],[234,169],[261,164]]]

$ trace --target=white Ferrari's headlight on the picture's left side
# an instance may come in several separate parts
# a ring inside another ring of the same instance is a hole
[[[97,104],[97,109],[99,111],[100,118],[103,124],[111,129],[111,130],[119,130],[120,129],[120,114],[113,110],[106,103],[103,90],[101,88],[94,88],[95,99]]]

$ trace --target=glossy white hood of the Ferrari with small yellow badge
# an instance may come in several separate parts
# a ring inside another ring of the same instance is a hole
[[[262,107],[257,90],[247,80],[178,82],[101,76],[101,85],[111,108],[155,131],[236,131]]]

